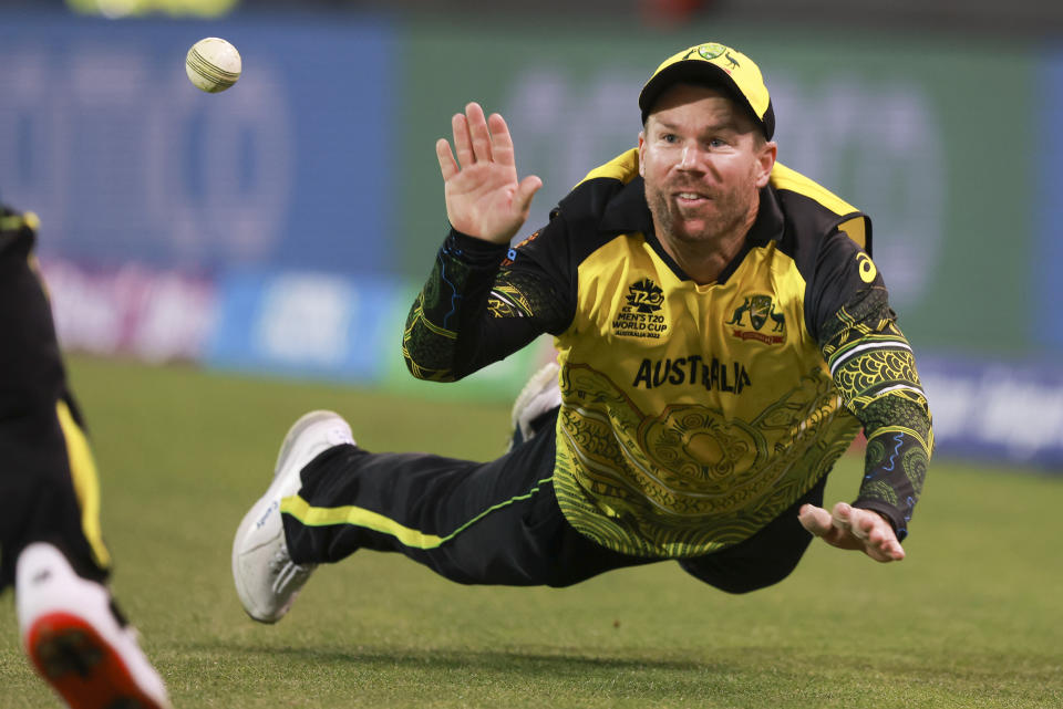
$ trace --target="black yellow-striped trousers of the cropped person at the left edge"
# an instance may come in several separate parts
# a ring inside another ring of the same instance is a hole
[[[0,208],[0,218],[11,212]],[[68,437],[83,437],[81,415],[66,387],[51,307],[30,267],[34,232],[0,230],[0,591],[14,580],[19,553],[47,541],[81,575],[102,581],[109,557],[86,529],[83,494],[94,494],[95,469]],[[61,418],[62,417],[62,418]]]

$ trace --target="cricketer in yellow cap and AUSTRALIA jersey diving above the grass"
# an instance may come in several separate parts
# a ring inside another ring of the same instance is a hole
[[[814,535],[905,557],[931,421],[869,218],[776,163],[767,87],[731,48],[671,56],[639,107],[638,147],[515,248],[541,181],[518,180],[502,116],[454,116],[456,159],[436,145],[452,230],[406,363],[456,380],[550,333],[559,368],[533,377],[488,462],[372,453],[338,415],[302,417],[234,542],[252,618],[278,621],[316,565],[360,549],[466,584],[677,560],[730,593],[786,577]],[[861,428],[859,492],[828,511]]]

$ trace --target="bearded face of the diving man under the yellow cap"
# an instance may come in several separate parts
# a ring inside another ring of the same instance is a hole
[[[639,174],[658,236],[705,242],[749,228],[775,164],[775,144],[725,93],[677,84],[639,135]],[[693,246],[693,243],[690,243]]]

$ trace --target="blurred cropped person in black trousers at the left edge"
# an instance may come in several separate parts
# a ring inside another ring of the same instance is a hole
[[[0,591],[22,645],[69,707],[169,707],[105,585],[111,557],[81,414],[33,256],[32,212],[0,206]]]

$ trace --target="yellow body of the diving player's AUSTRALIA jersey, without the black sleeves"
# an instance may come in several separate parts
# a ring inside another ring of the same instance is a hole
[[[602,171],[615,168],[591,179],[630,181],[637,154]],[[789,180],[806,186],[818,191]],[[836,198],[808,206],[835,227],[858,216]],[[805,325],[808,284],[778,241],[750,248],[722,283],[699,285],[665,259],[633,232],[579,263],[576,316],[557,336],[555,489],[599,543],[688,556],[740,542],[789,507],[859,421],[842,407]]]

